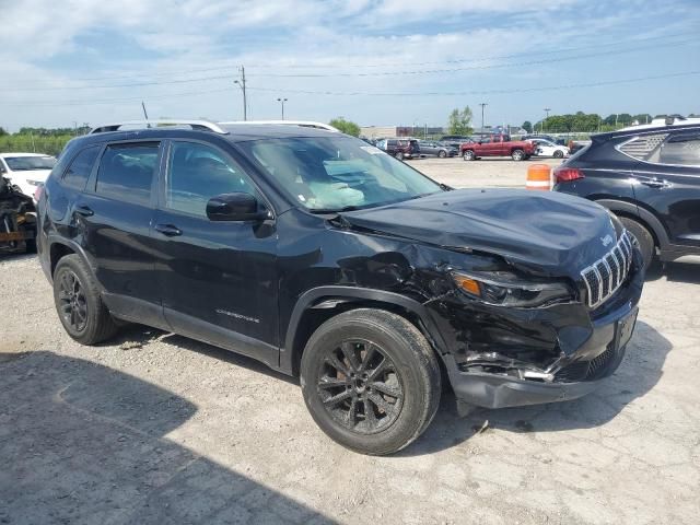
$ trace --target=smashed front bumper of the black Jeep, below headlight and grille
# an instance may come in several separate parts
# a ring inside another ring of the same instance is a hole
[[[625,278],[595,307],[588,306],[583,278],[544,285],[533,278],[521,293],[499,291],[492,282],[485,291],[478,277],[453,273],[454,289],[425,303],[459,400],[503,408],[574,399],[620,364],[643,284],[637,250],[630,249]]]

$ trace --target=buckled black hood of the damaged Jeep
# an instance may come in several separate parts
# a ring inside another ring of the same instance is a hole
[[[603,207],[550,191],[459,189],[345,212],[342,218],[358,228],[498,254],[572,278],[609,252],[618,238]]]

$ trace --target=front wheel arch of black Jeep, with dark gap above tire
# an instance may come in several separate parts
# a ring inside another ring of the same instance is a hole
[[[418,301],[383,290],[318,287],[301,295],[294,305],[284,337],[284,347],[280,349],[280,369],[299,375],[304,347],[316,328],[342,312],[368,307],[385,310],[407,318],[442,357],[446,348],[444,340],[435,329],[427,308]]]

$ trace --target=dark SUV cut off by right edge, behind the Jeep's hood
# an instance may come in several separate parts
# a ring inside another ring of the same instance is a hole
[[[700,119],[669,119],[595,135],[555,170],[555,190],[620,218],[649,266],[700,256]]]

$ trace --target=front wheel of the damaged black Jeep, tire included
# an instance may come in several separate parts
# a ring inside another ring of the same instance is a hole
[[[438,358],[423,335],[404,317],[371,308],[331,317],[311,336],[301,384],[328,436],[377,456],[412,443],[435,416],[441,393]]]

